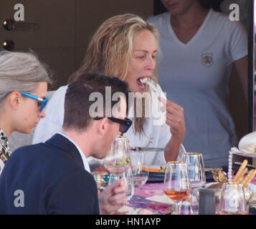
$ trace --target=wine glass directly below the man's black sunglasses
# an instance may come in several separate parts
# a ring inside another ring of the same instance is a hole
[[[103,160],[105,168],[116,177],[120,178],[123,172],[131,167],[131,157],[127,137],[115,137],[111,149]]]

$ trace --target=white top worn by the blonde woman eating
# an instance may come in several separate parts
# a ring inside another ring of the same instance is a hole
[[[160,89],[160,87],[158,87],[158,89]],[[47,117],[39,121],[34,131],[33,144],[45,142],[55,133],[61,132],[64,119],[64,102],[66,90],[67,85],[62,86],[52,95],[52,98],[49,100],[45,109]],[[155,112],[153,109],[156,109],[156,107],[159,107],[160,105],[158,99],[156,97],[153,98],[153,105],[151,106],[151,112],[149,113],[149,116]],[[133,108],[131,107],[128,115],[131,120],[133,120],[133,117],[131,117],[132,110]],[[154,117],[156,117],[156,115],[154,115]],[[143,127],[146,135],[144,133],[141,134],[141,136],[138,134],[135,135],[133,131],[133,125],[130,127],[128,132],[124,134],[125,137],[128,137],[131,147],[166,147],[167,143],[171,139],[170,128],[166,124],[158,125],[158,122],[156,122],[157,118],[154,117],[148,117],[146,120],[146,124]],[[181,149],[179,150],[179,157],[177,160],[181,160],[181,155],[184,152],[185,149],[183,145],[181,145]],[[163,152],[146,152],[145,159],[146,164],[148,165],[166,164]],[[90,159],[88,159],[88,161],[90,163]]]

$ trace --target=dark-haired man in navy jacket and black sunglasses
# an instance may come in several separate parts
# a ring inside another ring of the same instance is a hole
[[[108,101],[115,92],[124,96]],[[93,93],[103,100],[96,109],[103,116],[97,119]],[[128,84],[116,77],[87,74],[72,82],[65,96],[62,132],[15,150],[6,163],[0,177],[0,214],[107,214],[124,205],[127,186],[120,180],[98,200],[86,157],[104,158],[120,130],[131,126],[125,119],[127,98]],[[110,111],[114,119],[106,115]]]

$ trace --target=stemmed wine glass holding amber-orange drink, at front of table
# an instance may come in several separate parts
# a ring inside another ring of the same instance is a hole
[[[191,193],[186,162],[167,162],[163,192],[174,201],[174,214],[179,215],[179,203]]]

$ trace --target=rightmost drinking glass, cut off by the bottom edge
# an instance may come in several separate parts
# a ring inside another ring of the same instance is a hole
[[[242,184],[224,183],[219,201],[219,215],[247,215],[245,190]]]

